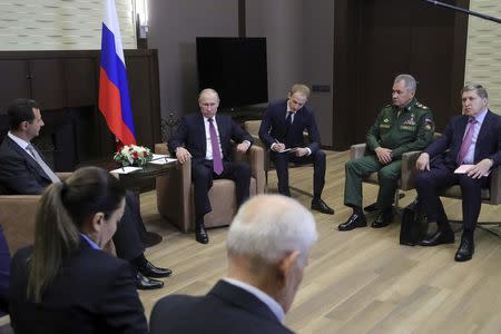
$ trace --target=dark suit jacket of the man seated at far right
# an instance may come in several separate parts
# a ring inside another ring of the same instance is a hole
[[[466,124],[468,116],[460,115],[453,117],[445,127],[442,136],[425,149],[430,158],[436,157],[438,159],[435,161],[443,159],[444,165],[449,169],[455,169],[458,167],[456,159],[463,141]],[[485,158],[494,161],[492,168],[501,164],[501,117],[490,110],[488,110],[483,119],[479,137],[477,138],[473,163],[478,164]]]

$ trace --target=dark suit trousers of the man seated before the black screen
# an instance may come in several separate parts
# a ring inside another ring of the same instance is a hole
[[[245,163],[223,160],[223,173],[217,175],[213,169],[213,160],[191,165],[196,223],[202,223],[204,215],[212,212],[208,191],[214,179],[227,178],[235,183],[238,206],[249,197],[250,166]]]

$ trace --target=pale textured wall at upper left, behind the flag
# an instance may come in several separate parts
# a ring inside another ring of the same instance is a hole
[[[132,0],[116,0],[125,49],[136,49]],[[0,50],[101,48],[100,0],[0,0]]]

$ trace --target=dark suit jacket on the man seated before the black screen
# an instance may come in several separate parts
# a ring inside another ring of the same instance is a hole
[[[219,131],[220,146],[223,149],[223,160],[229,161],[232,157],[230,140],[242,143],[248,140],[253,143],[253,137],[242,129],[232,117],[216,115],[217,129]],[[204,116],[202,112],[184,116],[169,143],[169,151],[184,146],[191,154],[191,166],[205,160],[207,153],[207,140],[205,136]]]

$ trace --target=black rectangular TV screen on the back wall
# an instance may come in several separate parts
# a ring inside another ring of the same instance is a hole
[[[197,37],[198,87],[214,88],[219,108],[268,101],[266,38]]]

